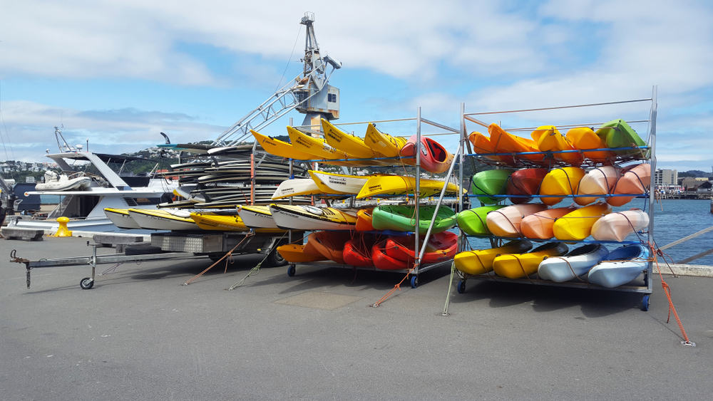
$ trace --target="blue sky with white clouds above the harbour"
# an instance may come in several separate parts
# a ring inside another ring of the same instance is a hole
[[[299,20],[313,11],[322,53],[343,63],[331,80],[340,123],[414,117],[421,106],[458,127],[461,102],[468,112],[598,103],[649,98],[657,85],[659,167],[713,165],[708,1],[68,0],[2,10],[0,160],[43,160],[60,124],[101,152],[161,143],[162,131],[172,142],[212,140],[301,71]],[[635,103],[481,119],[521,127],[648,112]],[[439,138],[455,150],[455,137]]]

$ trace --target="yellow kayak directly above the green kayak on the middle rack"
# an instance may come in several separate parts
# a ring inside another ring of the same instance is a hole
[[[421,179],[421,197],[430,197],[440,194],[445,182],[439,179]],[[356,199],[375,197],[378,195],[403,195],[414,192],[416,179],[414,177],[404,177],[401,175],[377,175],[369,178],[369,181],[361,187]],[[457,194],[458,185],[448,182],[446,193]]]

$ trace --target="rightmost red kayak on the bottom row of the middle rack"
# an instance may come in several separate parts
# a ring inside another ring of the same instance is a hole
[[[431,234],[429,244],[426,246],[422,263],[436,263],[452,259],[458,250],[458,235],[450,231],[443,231]],[[413,236],[391,236],[386,240],[386,254],[394,259],[406,261],[407,264],[414,263],[416,253],[414,252]]]

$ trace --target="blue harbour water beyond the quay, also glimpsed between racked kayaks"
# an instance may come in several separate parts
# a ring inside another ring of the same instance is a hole
[[[567,204],[568,202],[566,201],[560,202],[555,207],[565,207]],[[648,209],[648,200],[634,199],[623,207],[613,208],[613,211],[618,212],[635,207]],[[684,236],[713,226],[713,214],[710,212],[710,201],[707,199],[664,199],[656,202],[654,204],[654,219],[654,240],[657,246],[665,246]],[[627,240],[635,241],[636,236],[632,234]],[[470,238],[469,243],[473,249],[491,247],[488,239]],[[570,246],[570,249],[572,247]],[[610,250],[614,247],[615,245],[607,244],[607,248]],[[675,263],[712,248],[713,231],[709,231],[665,250],[665,254],[667,255],[667,260],[672,259]],[[713,266],[713,254],[690,261],[689,264]]]

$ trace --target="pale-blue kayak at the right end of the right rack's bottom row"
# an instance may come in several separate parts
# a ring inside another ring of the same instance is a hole
[[[617,248],[589,271],[589,282],[607,288],[630,283],[647,269],[648,257],[649,249],[640,244]]]

